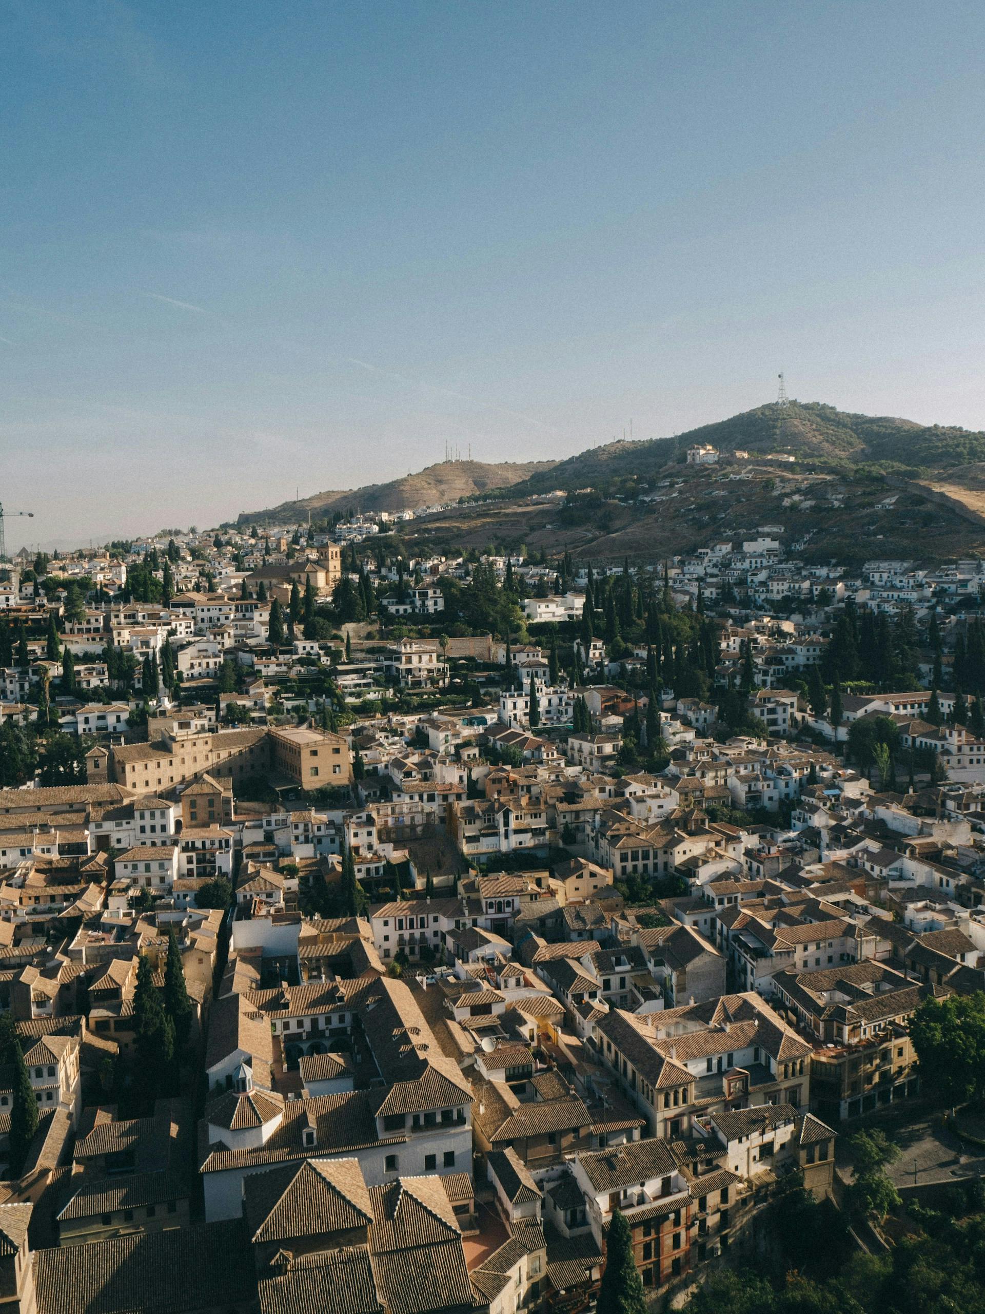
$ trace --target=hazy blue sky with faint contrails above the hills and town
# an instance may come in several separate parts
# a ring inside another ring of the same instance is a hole
[[[8,540],[775,396],[985,427],[985,7],[0,0]]]

